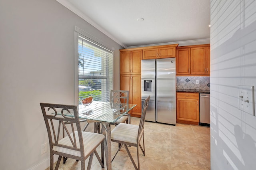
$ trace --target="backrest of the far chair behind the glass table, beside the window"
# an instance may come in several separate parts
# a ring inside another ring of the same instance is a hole
[[[129,103],[129,91],[126,90],[111,90],[110,102],[112,103]]]

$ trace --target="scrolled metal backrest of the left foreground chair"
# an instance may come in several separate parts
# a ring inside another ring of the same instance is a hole
[[[84,155],[82,130],[79,123],[77,107],[73,105],[50,103],[40,103],[40,105],[48,132],[50,151],[53,146],[59,146],[74,151],[80,151],[80,155]],[[69,124],[67,125],[66,122],[69,122]],[[63,144],[63,142],[59,144],[62,129],[64,129],[64,132],[66,132],[69,137],[69,140],[67,140],[65,144]],[[78,133],[78,135],[76,135],[76,133]]]

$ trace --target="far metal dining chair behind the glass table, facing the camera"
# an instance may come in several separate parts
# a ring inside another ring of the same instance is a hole
[[[129,91],[126,90],[111,90],[110,91],[110,102],[112,103],[129,103]],[[126,113],[120,119],[118,119],[115,123],[110,123],[117,126],[119,123],[128,123],[131,124],[131,115],[130,113]]]

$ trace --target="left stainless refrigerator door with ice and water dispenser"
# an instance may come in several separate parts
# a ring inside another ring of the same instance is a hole
[[[146,85],[146,86],[145,86]],[[155,81],[155,59],[141,60],[141,99],[144,100],[150,95],[146,121],[156,121],[156,81]]]

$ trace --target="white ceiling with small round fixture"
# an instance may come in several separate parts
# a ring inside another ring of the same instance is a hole
[[[210,0],[57,1],[123,47],[210,39]]]

